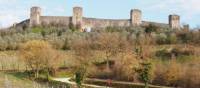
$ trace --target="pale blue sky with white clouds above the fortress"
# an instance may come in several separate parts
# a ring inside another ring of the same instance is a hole
[[[130,10],[143,12],[143,20],[168,23],[169,14],[181,16],[181,24],[200,25],[200,0],[0,0],[0,27],[29,18],[30,8],[40,6],[42,15],[71,16],[81,6],[85,17],[129,19]]]

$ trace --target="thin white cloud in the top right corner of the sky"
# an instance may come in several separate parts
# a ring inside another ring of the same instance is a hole
[[[145,3],[145,2],[144,2]],[[192,14],[200,13],[200,0],[166,0],[154,1],[146,5],[150,10],[169,10],[170,12],[188,12]]]

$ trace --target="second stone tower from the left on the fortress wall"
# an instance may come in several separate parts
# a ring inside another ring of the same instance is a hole
[[[75,26],[82,27],[83,24],[83,9],[81,7],[73,8],[72,23]]]

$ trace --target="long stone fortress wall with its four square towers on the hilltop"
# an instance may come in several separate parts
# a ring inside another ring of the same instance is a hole
[[[73,8],[73,16],[42,16],[40,7],[32,7],[30,14],[30,26],[37,25],[65,25],[68,26],[70,23],[74,25],[80,25],[81,28],[85,27],[108,27],[108,26],[142,26],[142,25],[162,25],[171,27],[172,29],[180,29],[180,16],[169,15],[169,23],[156,23],[142,21],[142,11],[139,9],[132,9],[130,11],[130,19],[98,19],[98,18],[87,18],[83,16],[83,9],[81,7]]]

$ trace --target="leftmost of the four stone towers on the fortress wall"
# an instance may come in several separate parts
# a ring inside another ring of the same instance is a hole
[[[40,25],[41,8],[32,7],[30,13],[30,26]]]

